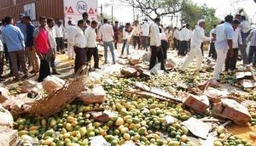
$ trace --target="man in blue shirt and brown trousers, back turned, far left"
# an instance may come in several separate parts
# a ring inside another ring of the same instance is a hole
[[[3,42],[6,43],[10,60],[12,62],[12,71],[15,76],[15,81],[20,80],[19,71],[18,71],[18,62],[20,63],[24,78],[28,76],[27,68],[26,68],[26,58],[25,58],[25,42],[24,36],[20,29],[16,27],[14,24],[14,20],[10,17],[6,17],[5,19],[6,26],[3,29]]]

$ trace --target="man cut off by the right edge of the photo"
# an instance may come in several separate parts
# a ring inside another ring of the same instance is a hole
[[[249,63],[253,63],[253,67],[256,67],[256,29],[253,29],[247,38],[247,42],[251,42],[249,48]],[[254,55],[254,59],[253,59]]]

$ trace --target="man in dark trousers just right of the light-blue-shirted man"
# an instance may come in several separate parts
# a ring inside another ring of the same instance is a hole
[[[226,71],[236,70],[238,48],[241,48],[241,45],[242,45],[241,31],[238,28],[238,25],[240,25],[239,20],[233,20],[232,21],[232,27],[235,30],[234,36],[233,36],[233,39],[232,39],[234,55],[230,56],[230,50],[228,51],[227,57],[226,57],[226,60],[225,60],[225,70]]]

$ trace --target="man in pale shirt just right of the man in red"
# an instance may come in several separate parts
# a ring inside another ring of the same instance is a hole
[[[55,56],[56,56],[56,41],[55,41],[55,37],[56,37],[56,32],[54,29],[54,25],[55,25],[55,20],[52,18],[47,19],[47,31],[49,32],[48,38],[49,38],[49,53],[47,55],[47,60],[49,62],[49,65],[52,69],[52,74],[53,75],[61,75],[61,73],[59,73],[56,70],[56,66],[55,66]]]

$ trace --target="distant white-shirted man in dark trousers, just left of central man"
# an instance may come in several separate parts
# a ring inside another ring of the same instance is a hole
[[[148,23],[148,20],[145,19],[142,25],[142,45],[143,45],[143,49],[145,49],[146,51],[148,51],[149,28],[150,28],[150,25]]]

